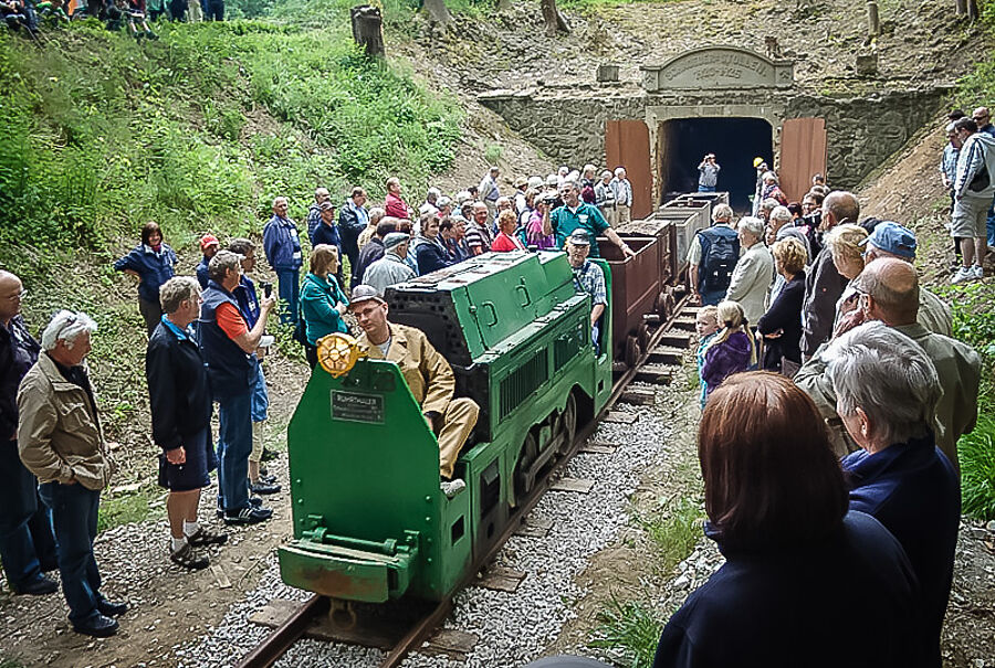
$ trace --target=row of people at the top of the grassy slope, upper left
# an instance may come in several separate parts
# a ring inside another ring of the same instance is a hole
[[[150,22],[223,21],[224,0],[0,0],[0,19],[9,30],[32,38],[42,23],[95,19],[107,30],[127,30],[136,40],[158,40]]]

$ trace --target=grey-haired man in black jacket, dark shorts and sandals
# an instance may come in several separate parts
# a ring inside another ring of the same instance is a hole
[[[211,444],[211,386],[190,325],[200,315],[200,286],[187,276],[159,288],[163,319],[148,340],[145,378],[151,406],[153,441],[159,455],[159,486],[169,518],[169,559],[185,569],[206,569],[210,560],[197,548],[222,544],[224,533],[199,524],[200,490],[218,467]]]

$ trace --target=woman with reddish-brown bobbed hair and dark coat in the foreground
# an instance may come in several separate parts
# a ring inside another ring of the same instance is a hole
[[[807,394],[768,371],[731,375],[698,454],[725,564],[670,618],[654,668],[924,665],[915,575],[878,520],[848,511]]]

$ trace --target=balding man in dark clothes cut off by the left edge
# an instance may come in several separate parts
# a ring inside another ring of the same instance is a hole
[[[0,271],[0,561],[11,590],[38,595],[59,586],[42,574],[57,565],[51,512],[18,456],[18,385],[41,350],[21,317],[23,296],[21,280]]]

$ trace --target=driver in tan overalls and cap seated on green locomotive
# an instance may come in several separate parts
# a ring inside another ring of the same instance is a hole
[[[349,309],[356,316],[363,335],[359,346],[370,359],[395,362],[408,389],[421,406],[425,421],[439,439],[441,488],[452,498],[467,484],[452,478],[460,448],[476,425],[480,406],[472,399],[453,397],[455,378],[452,368],[421,330],[387,320],[387,303],[369,285],[353,288]]]

